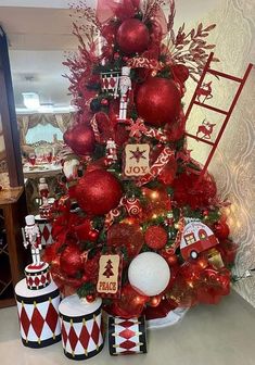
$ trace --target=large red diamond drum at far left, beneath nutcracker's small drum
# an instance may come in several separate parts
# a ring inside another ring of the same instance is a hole
[[[61,340],[60,291],[52,281],[47,288],[29,290],[26,279],[15,287],[22,342],[28,348],[44,348]]]

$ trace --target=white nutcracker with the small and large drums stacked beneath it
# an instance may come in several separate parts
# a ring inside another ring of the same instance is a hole
[[[15,295],[22,342],[43,348],[61,340],[60,291],[52,281],[49,265],[40,260],[40,231],[34,215],[26,216],[24,247],[30,247],[33,263],[25,267],[25,279],[17,282]]]

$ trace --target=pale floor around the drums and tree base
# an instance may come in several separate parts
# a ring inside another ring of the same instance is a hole
[[[44,349],[23,347],[15,307],[0,310],[1,365],[74,364],[61,342]],[[181,323],[149,332],[149,353],[111,357],[105,345],[91,365],[254,365],[255,310],[235,292],[217,306],[190,310]],[[82,363],[82,362],[81,362]]]

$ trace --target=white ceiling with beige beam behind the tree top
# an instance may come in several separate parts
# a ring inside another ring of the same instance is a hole
[[[14,95],[24,108],[22,92],[35,91],[42,103],[69,105],[68,81],[62,77],[65,52],[77,48],[72,35],[69,0],[0,0],[0,25],[8,35]],[[97,0],[87,1],[95,5]],[[220,0],[176,0],[176,28],[195,24]],[[30,79],[30,76],[33,79]],[[27,80],[27,77],[29,78]]]

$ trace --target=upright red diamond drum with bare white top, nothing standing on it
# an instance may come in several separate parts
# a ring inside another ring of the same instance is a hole
[[[72,360],[86,360],[103,349],[102,300],[89,303],[77,294],[65,298],[59,307],[64,353]]]

